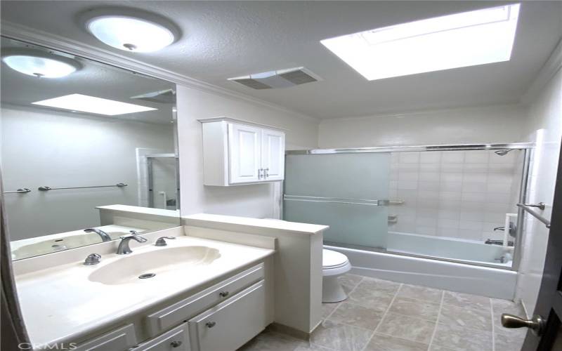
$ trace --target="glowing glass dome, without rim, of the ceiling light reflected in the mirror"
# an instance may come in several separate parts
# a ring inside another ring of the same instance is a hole
[[[11,69],[34,77],[60,78],[77,70],[66,62],[32,55],[9,55],[2,60]]]

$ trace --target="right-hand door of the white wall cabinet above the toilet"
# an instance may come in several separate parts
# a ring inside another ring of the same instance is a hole
[[[285,133],[263,129],[261,132],[261,168],[265,180],[285,178]]]

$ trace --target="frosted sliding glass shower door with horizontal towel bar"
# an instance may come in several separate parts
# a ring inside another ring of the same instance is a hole
[[[288,154],[283,219],[329,225],[327,243],[386,249],[389,153]]]

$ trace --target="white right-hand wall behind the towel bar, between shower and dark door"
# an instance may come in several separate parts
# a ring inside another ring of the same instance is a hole
[[[529,141],[537,143],[531,164],[528,202],[546,203],[547,208],[542,214],[550,218],[562,138],[561,70],[532,102],[528,114],[525,133]],[[530,317],[540,290],[549,230],[532,216],[526,216],[526,220],[516,298],[521,298]]]

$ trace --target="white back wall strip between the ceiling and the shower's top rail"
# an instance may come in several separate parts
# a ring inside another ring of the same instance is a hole
[[[435,145],[521,141],[525,109],[518,105],[327,119],[320,147]]]

